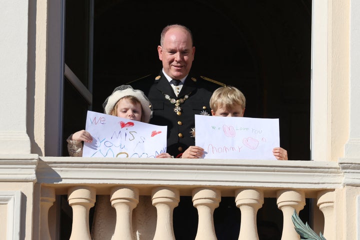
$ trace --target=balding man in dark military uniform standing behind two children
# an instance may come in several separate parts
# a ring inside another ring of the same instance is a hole
[[[209,114],[209,99],[220,82],[189,74],[194,59],[191,31],[179,24],[166,26],[157,46],[162,69],[158,75],[149,75],[129,82],[141,89],[152,103],[150,123],[167,125],[167,152],[174,157],[198,158],[191,130],[194,114]],[[193,150],[190,154],[189,151]]]

